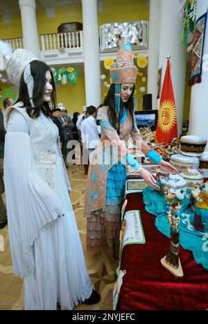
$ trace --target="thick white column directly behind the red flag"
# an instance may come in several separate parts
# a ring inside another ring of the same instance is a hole
[[[182,18],[180,0],[161,0],[159,67],[162,67],[162,84],[166,71],[166,56],[171,56],[171,78],[177,110],[177,135],[182,133],[184,112],[184,89],[187,54],[182,44]],[[157,105],[159,106],[159,100]]]

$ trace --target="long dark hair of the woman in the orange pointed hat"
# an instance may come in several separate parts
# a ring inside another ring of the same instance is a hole
[[[108,106],[107,110],[107,116],[110,120],[110,123],[112,124],[113,128],[117,130],[117,133],[120,133],[120,119],[123,115],[123,106],[125,105],[126,110],[130,112],[130,119],[132,121],[132,127],[134,128],[134,103],[133,103],[133,94],[135,92],[135,85],[132,91],[132,94],[130,95],[128,101],[124,104],[121,100],[120,103],[120,112],[119,112],[119,118],[116,117],[116,110],[114,106],[114,93],[115,93],[115,85],[112,83],[110,85],[110,89],[107,92],[107,96],[105,97],[103,105]],[[119,123],[118,127],[116,126],[116,123]]]

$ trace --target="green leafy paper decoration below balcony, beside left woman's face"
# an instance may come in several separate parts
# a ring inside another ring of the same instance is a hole
[[[53,71],[53,77],[55,83],[66,85],[68,82],[69,85],[71,85],[71,83],[73,83],[73,85],[76,85],[78,71],[74,67],[61,67],[60,69],[55,69]]]

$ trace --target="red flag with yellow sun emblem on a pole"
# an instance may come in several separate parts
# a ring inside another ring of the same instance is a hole
[[[173,138],[177,137],[177,116],[169,59],[162,86],[155,137],[157,143],[166,142],[168,144],[171,144]]]

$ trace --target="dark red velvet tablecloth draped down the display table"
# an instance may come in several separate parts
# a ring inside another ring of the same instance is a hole
[[[160,263],[170,240],[155,227],[155,216],[144,209],[142,194],[128,195],[128,210],[140,210],[146,244],[123,248],[121,309],[208,309],[208,271],[196,264],[191,251],[180,247],[183,278]]]

